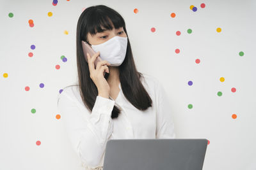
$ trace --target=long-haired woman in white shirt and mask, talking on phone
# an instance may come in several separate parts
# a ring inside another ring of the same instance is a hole
[[[97,53],[85,56],[81,41]],[[137,71],[118,12],[104,5],[86,8],[76,43],[79,83],[63,89],[58,107],[83,167],[102,169],[109,139],[175,138],[163,86]],[[99,55],[102,61],[95,68]]]

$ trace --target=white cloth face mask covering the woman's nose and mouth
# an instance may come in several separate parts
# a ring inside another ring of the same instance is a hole
[[[99,45],[92,45],[95,52],[100,52],[100,58],[107,60],[110,66],[120,66],[125,59],[127,37],[114,36]]]

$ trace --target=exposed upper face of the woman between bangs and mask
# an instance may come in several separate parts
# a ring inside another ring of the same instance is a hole
[[[120,27],[118,29],[115,29],[115,27],[113,27],[113,30],[105,30],[104,32],[97,32],[97,34],[95,34],[93,36],[89,32],[88,36],[87,36],[87,40],[91,45],[99,45],[101,43],[108,41],[109,39],[113,38],[114,36],[127,37],[127,35],[124,31],[124,27]]]

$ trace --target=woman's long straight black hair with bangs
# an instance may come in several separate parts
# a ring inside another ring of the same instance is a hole
[[[76,53],[77,53],[77,72],[79,79],[79,92],[83,99],[84,106],[92,111],[95,104],[96,97],[98,96],[98,90],[95,83],[90,78],[90,71],[88,63],[84,59],[83,48],[81,41],[87,41],[88,32],[95,35],[97,32],[103,32],[101,26],[104,29],[112,30],[124,27],[124,31],[127,34],[125,28],[124,18],[115,10],[105,5],[90,6],[81,13],[77,22],[76,32]],[[119,68],[119,78],[122,91],[126,99],[138,110],[147,110],[148,107],[152,106],[152,99],[148,95],[147,90],[141,83],[143,74],[138,72],[134,63],[131,45],[127,34],[127,50],[125,54],[124,62]],[[111,73],[106,73],[105,78]],[[111,118],[117,118],[120,109],[114,106],[112,110]]]

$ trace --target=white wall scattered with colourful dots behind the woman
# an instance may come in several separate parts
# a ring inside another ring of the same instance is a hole
[[[209,139],[204,170],[256,169],[255,2],[59,0],[53,6],[52,1],[1,1],[0,169],[81,169],[56,118],[56,99],[60,89],[77,81],[79,15],[97,4],[124,17],[138,70],[156,76],[168,92],[177,138]]]

